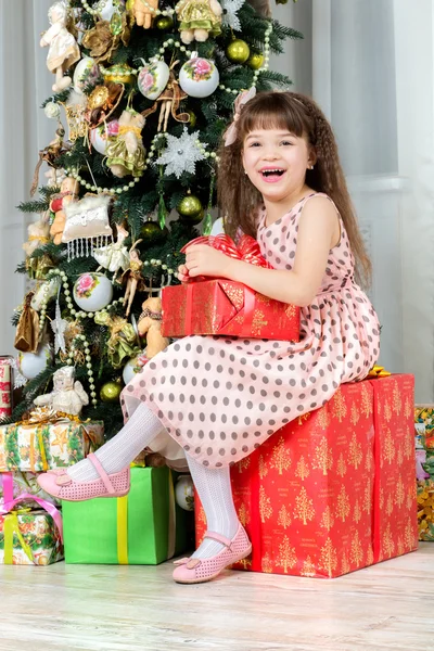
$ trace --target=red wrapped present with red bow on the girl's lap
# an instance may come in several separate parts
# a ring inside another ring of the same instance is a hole
[[[243,235],[237,247],[228,235],[197,238],[226,255],[270,268],[253,238]],[[184,251],[184,250],[182,250]],[[248,339],[299,340],[299,308],[268,298],[246,285],[221,278],[196,278],[162,292],[162,334],[218,334]]]

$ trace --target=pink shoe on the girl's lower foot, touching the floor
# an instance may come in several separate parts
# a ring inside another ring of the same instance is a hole
[[[173,576],[177,583],[191,584],[210,580],[220,574],[221,570],[237,561],[241,561],[252,551],[251,541],[241,524],[232,540],[215,532],[206,532],[204,537],[221,542],[225,545],[225,549],[208,559],[180,559],[175,561],[174,564],[178,567],[174,571]]]

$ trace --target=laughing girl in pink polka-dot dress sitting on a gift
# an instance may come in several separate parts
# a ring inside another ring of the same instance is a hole
[[[184,456],[208,531],[191,559],[178,561],[179,583],[209,580],[251,551],[229,467],[324,405],[340,383],[363,379],[379,356],[378,319],[356,284],[369,280],[370,263],[330,125],[302,94],[247,98],[237,102],[221,148],[219,203],[226,231],[256,237],[273,269],[191,245],[179,278],[228,278],[301,306],[301,342],[187,336],[171,344],[124,388],[128,422],[117,436],[39,477],[61,499],[120,496],[146,446],[178,468]]]

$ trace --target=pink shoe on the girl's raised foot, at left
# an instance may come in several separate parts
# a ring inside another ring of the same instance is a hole
[[[129,492],[129,465],[115,474],[107,475],[98,458],[90,454],[87,459],[94,465],[100,478],[91,482],[77,482],[66,468],[58,468],[38,476],[38,484],[46,493],[66,501],[84,501],[94,497],[124,497]]]

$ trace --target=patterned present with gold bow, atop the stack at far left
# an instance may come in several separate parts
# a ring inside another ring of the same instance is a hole
[[[36,409],[29,420],[0,426],[0,472],[73,465],[102,445],[102,421],[81,422],[47,411]]]

